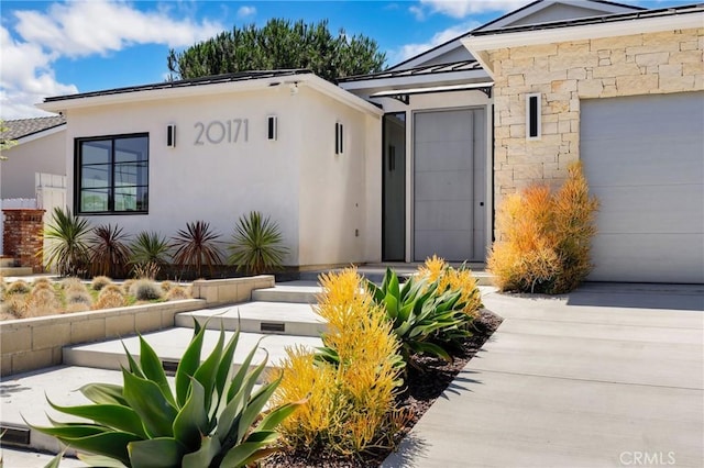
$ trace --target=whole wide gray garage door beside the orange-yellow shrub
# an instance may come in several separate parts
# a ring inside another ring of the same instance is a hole
[[[585,100],[596,281],[704,282],[704,92]]]

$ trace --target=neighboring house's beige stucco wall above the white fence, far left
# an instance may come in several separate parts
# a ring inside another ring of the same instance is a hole
[[[1,199],[35,198],[35,172],[66,174],[66,132],[28,140],[3,152],[8,159],[0,163]]]

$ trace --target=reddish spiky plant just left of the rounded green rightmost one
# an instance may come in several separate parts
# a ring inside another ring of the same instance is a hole
[[[222,264],[218,237],[220,237],[220,234],[210,230],[210,223],[205,221],[187,223],[186,230],[179,230],[173,238],[174,247],[176,248],[174,261],[182,269],[186,266],[195,267],[198,277],[201,277],[205,264],[208,266],[212,277],[212,266]]]

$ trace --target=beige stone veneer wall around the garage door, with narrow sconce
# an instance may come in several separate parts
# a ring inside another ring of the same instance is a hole
[[[532,181],[557,186],[580,157],[580,101],[704,90],[704,29],[488,52],[494,68],[496,207]],[[526,140],[526,94],[541,93],[542,137]]]

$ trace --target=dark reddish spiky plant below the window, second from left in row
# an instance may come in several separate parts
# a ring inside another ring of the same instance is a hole
[[[105,224],[92,230],[90,239],[90,271],[94,276],[120,278],[130,261],[128,235],[117,224]]]

